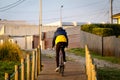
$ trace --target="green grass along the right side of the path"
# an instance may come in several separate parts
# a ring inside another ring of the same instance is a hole
[[[80,48],[72,48],[67,50],[67,52],[73,53],[78,56],[85,56],[85,49]],[[120,64],[120,59],[115,57],[103,57],[90,51],[92,58],[97,58],[105,61],[109,61],[112,63]],[[120,69],[115,68],[97,68],[97,78],[98,80],[120,80]]]

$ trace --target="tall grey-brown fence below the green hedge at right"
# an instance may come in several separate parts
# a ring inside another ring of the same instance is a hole
[[[101,56],[120,57],[120,38],[116,36],[102,37],[80,30],[80,48],[86,44]]]

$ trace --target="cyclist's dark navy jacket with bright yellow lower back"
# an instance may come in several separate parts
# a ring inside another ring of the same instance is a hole
[[[62,27],[57,28],[56,32],[54,33],[52,47],[59,42],[66,42],[66,47],[68,47],[67,33]]]

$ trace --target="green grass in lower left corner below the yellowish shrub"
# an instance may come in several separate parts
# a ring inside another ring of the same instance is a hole
[[[0,61],[0,80],[4,80],[5,72],[12,75],[14,73],[14,66],[20,64],[14,61]]]

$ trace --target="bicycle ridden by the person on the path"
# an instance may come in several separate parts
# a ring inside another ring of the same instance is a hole
[[[61,76],[64,76],[64,67],[65,66],[64,66],[62,46],[61,46],[59,52],[59,74],[61,74]]]

